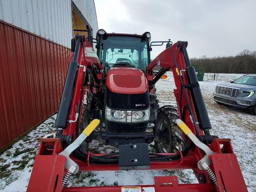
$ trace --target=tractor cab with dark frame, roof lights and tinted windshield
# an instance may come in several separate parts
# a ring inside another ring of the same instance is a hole
[[[97,55],[102,63],[104,76],[110,68],[129,67],[146,72],[150,62],[150,33],[116,34],[99,30],[96,34]]]

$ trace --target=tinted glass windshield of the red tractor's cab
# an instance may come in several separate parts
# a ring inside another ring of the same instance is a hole
[[[148,45],[137,37],[108,36],[100,41],[99,59],[103,66],[130,66],[146,71]]]

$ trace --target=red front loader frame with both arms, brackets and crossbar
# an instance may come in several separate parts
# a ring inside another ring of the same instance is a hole
[[[165,161],[151,161],[150,170],[192,169],[198,179],[198,184],[179,184],[176,176],[155,176],[154,185],[84,186],[64,187],[62,189],[62,181],[67,172],[65,169],[66,157],[58,154],[63,151],[63,142],[69,138],[68,136],[77,137],[76,127],[81,121],[82,102],[86,90],[90,89],[96,94],[100,90],[99,85],[102,83],[102,70],[100,70],[102,65],[92,45],[84,36],[80,35],[77,35],[74,41],[76,42],[74,58],[70,62],[62,100],[67,101],[67,97],[70,98],[68,98],[69,101],[66,103],[61,101],[59,109],[61,117],[56,120],[56,127],[63,131],[62,137],[42,138],[40,140],[40,146],[34,161],[27,192],[123,192],[125,191],[124,189],[129,187],[130,191],[136,192],[247,191],[230,139],[221,138],[214,138],[208,145],[214,152],[208,158],[212,161],[210,168],[216,176],[218,186],[212,183],[206,171],[198,169],[197,162],[204,157],[204,153],[187,138],[190,149],[186,154],[178,151],[177,154],[180,157],[178,160],[172,160],[170,158],[170,160]],[[148,66],[146,77],[150,92],[152,92],[154,84],[160,77],[166,71],[172,69],[176,84],[174,95],[177,101],[179,117],[192,130],[192,133],[198,137],[204,137],[207,140],[207,136],[210,136],[208,132],[211,127],[210,123],[208,123],[209,118],[199,85],[193,83],[191,76],[188,74],[188,67],[191,67],[191,65],[186,52],[187,46],[188,43],[182,41],[178,41],[173,45],[169,44],[166,50],[160,53]],[[153,74],[153,68],[155,66],[161,66],[161,70],[156,75]],[[91,76],[95,81],[95,86],[93,87],[88,87],[88,84],[84,83],[86,82],[87,69],[92,73]],[[75,75],[73,74],[73,79],[70,79],[72,71],[75,71]],[[199,101],[203,104],[198,104],[200,103]],[[177,154],[160,155],[174,156]],[[120,170],[118,164],[93,164],[90,162],[91,156],[100,157],[104,155],[92,154],[89,151],[84,161],[78,160],[72,155],[70,157],[79,165],[79,171]]]

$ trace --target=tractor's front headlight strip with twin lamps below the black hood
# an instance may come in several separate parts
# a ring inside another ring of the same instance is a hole
[[[150,117],[150,108],[146,110],[115,110],[108,106],[105,108],[105,117],[109,121],[117,122],[144,122],[148,121]]]

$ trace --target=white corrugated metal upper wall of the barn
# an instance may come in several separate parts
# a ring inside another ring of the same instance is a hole
[[[74,0],[84,18],[98,30],[93,0]],[[0,0],[0,19],[70,48],[72,0]]]

